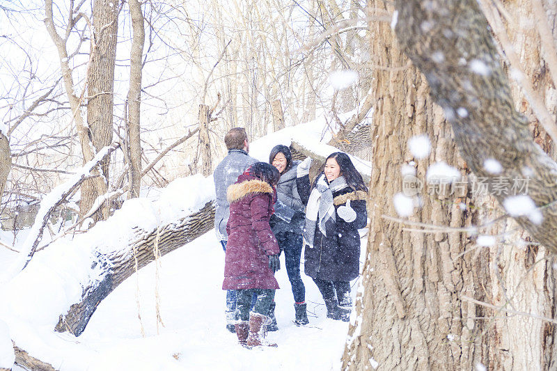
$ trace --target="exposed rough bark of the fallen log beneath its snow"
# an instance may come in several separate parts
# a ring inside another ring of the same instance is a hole
[[[164,256],[176,248],[193,241],[214,227],[214,203],[209,202],[198,212],[191,214],[178,223],[162,226],[158,230],[158,249]],[[99,303],[120,283],[155,260],[154,247],[157,229],[146,231],[138,228],[136,237],[128,246],[108,255],[97,257],[92,265],[101,264],[104,270],[102,281],[92,282],[84,290],[81,302],[70,307],[66,315],[61,315],[56,331],[70,331],[81,335],[97,309]]]

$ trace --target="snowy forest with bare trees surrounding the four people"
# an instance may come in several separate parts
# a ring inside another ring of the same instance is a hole
[[[0,46],[0,370],[557,369],[557,1],[0,0]],[[282,254],[278,346],[225,328],[234,127],[366,182],[349,322],[302,252],[308,325]]]

